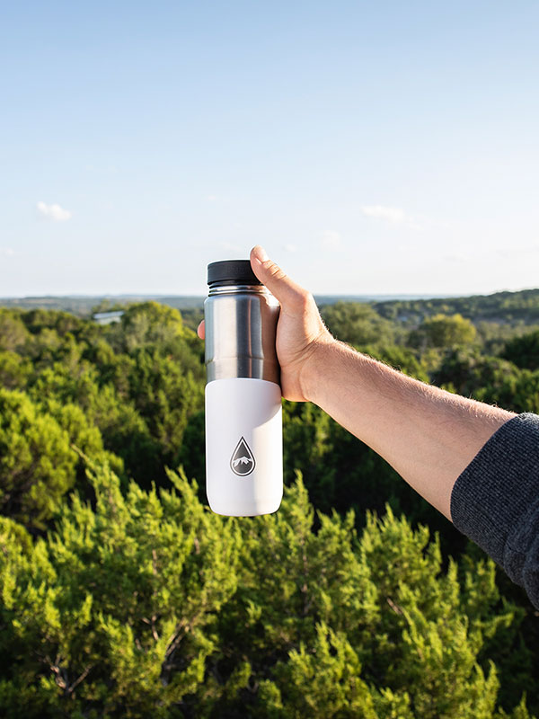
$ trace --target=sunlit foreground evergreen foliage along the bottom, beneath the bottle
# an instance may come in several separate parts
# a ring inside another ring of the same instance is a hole
[[[514,614],[491,562],[461,583],[391,510],[359,539],[350,513],[314,532],[301,478],[236,520],[183,475],[125,495],[91,477],[94,508],[73,495],[47,537],[0,521],[5,716],[507,716],[478,659]]]

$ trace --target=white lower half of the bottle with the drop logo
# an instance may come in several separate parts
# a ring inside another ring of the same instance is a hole
[[[216,514],[277,511],[283,496],[281,390],[251,377],[206,386],[206,487]]]

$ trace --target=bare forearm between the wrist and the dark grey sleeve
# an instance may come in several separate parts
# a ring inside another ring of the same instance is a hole
[[[451,519],[456,478],[512,413],[402,375],[341,342],[317,348],[305,396]]]

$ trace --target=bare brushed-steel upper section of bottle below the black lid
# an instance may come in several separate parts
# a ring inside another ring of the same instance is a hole
[[[263,285],[217,285],[204,303],[208,382],[229,377],[279,384],[277,299]]]

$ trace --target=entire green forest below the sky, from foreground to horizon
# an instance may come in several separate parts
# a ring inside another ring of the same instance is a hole
[[[539,412],[535,306],[502,300],[503,325],[490,299],[323,315],[411,376]],[[314,405],[284,404],[276,515],[208,510],[197,312],[0,309],[0,715],[538,715],[524,593]]]

